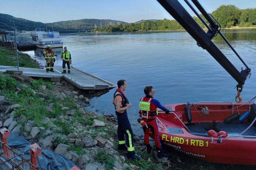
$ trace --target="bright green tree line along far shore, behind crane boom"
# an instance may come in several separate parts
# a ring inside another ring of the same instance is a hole
[[[202,16],[202,14],[200,14]],[[256,8],[239,9],[235,5],[221,5],[212,12],[212,16],[220,23],[221,28],[256,27]],[[203,16],[202,16],[203,17]],[[205,28],[198,17],[195,21]],[[204,17],[203,17],[204,18]],[[204,18],[204,20],[206,20]],[[207,22],[208,23],[208,22]],[[209,23],[208,23],[209,24]],[[109,25],[105,28],[94,28],[92,32],[123,32],[123,31],[157,31],[183,29],[176,20],[159,19],[156,22],[146,20],[140,23]]]

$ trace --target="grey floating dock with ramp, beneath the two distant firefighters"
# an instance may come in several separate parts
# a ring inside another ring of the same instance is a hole
[[[66,68],[67,69],[67,68]],[[11,66],[1,66],[0,72],[5,72],[6,70],[17,70],[17,68],[11,68]],[[62,66],[54,66],[54,72],[47,73],[45,69],[35,69],[35,68],[24,68],[19,67],[19,71],[22,71],[22,75],[31,77],[48,77],[48,78],[64,78],[66,81],[74,84],[80,89],[111,89],[117,87],[115,84],[110,83],[106,80],[98,78],[89,73],[85,73],[77,68],[71,67],[70,72],[62,74]]]

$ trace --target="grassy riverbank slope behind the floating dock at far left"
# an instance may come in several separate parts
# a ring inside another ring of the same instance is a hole
[[[27,54],[18,52],[19,67],[39,68],[35,60],[32,60]],[[8,50],[0,46],[0,65],[17,66],[17,57],[15,50]]]

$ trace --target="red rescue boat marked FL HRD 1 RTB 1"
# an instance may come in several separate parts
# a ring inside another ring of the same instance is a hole
[[[165,107],[172,112],[166,115],[159,110],[159,137],[172,150],[209,162],[256,165],[255,104],[198,102]],[[214,136],[208,133],[211,129],[227,135]]]

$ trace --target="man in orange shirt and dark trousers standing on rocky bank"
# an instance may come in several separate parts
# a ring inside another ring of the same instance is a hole
[[[118,149],[119,150],[127,150],[127,158],[132,158],[136,160],[140,160],[140,156],[135,154],[134,151],[134,143],[133,143],[133,132],[131,128],[131,124],[129,122],[127,116],[127,109],[131,107],[131,103],[129,103],[127,97],[124,95],[124,91],[127,88],[127,83],[125,80],[119,80],[117,82],[118,89],[116,89],[113,98],[113,104],[115,106],[115,113],[117,117],[117,135],[118,135]],[[126,145],[124,135],[126,138]]]

